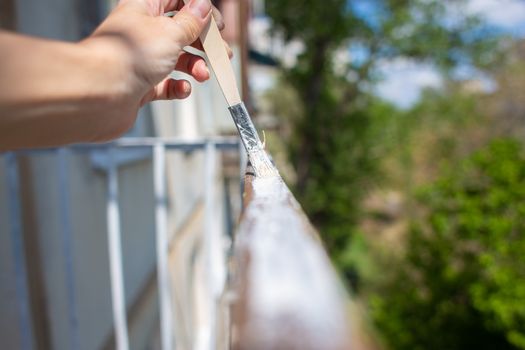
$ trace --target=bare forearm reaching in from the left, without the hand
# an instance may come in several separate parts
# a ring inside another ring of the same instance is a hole
[[[131,63],[112,43],[0,32],[0,150],[103,141],[138,109]]]

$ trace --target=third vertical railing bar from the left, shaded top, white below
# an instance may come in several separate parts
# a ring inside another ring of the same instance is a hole
[[[111,301],[116,348],[129,349],[128,326],[126,318],[126,298],[124,295],[124,277],[122,269],[122,244],[120,231],[120,213],[118,207],[118,173],[114,149],[108,150],[108,247],[111,278]]]

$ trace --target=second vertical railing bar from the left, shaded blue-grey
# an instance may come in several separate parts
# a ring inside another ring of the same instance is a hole
[[[71,332],[71,349],[79,349],[78,313],[75,291],[75,269],[73,260],[73,231],[71,225],[71,210],[69,200],[69,154],[66,148],[58,150],[58,188],[60,196],[60,215],[62,227],[62,251],[66,269],[66,288],[68,301],[68,318]]]

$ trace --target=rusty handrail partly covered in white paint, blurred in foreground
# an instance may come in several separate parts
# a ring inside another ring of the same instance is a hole
[[[246,176],[233,265],[233,349],[353,348],[348,295],[280,178]]]

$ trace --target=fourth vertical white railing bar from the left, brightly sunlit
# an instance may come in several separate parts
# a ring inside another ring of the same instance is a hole
[[[153,150],[153,181],[155,187],[155,223],[157,228],[157,282],[162,350],[173,349],[173,320],[168,268],[168,215],[166,201],[166,148],[158,142]]]

